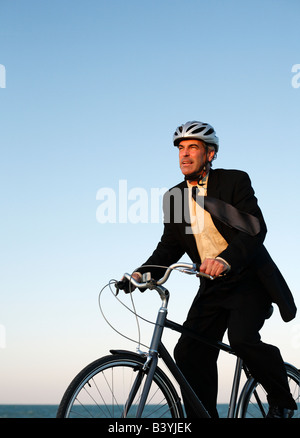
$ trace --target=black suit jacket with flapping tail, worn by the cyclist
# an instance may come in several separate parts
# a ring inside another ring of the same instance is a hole
[[[190,231],[187,183],[183,181],[164,196],[164,232],[157,248],[144,265],[169,266],[185,253],[194,263],[201,263],[196,241]],[[247,173],[238,170],[210,170],[207,195],[221,199],[241,211],[256,216],[260,221],[260,233],[250,236],[231,228],[212,217],[215,227],[228,242],[228,247],[219,254],[231,265],[231,272],[251,269],[256,273],[265,290],[280,310],[284,321],[296,315],[296,306],[291,291],[283,276],[263,245],[267,228]],[[160,278],[164,269],[139,268],[140,272],[151,270],[154,278]]]

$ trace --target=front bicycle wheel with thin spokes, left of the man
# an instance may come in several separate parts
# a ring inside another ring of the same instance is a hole
[[[97,359],[70,383],[57,418],[135,418],[146,378],[145,358],[116,353]],[[142,418],[183,418],[180,399],[157,368]]]

